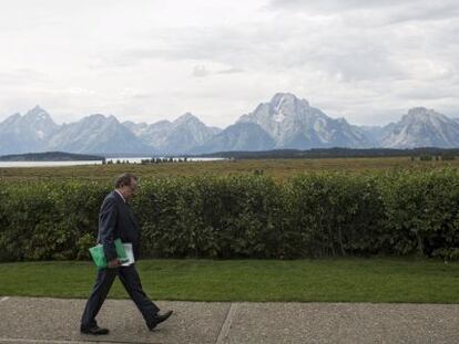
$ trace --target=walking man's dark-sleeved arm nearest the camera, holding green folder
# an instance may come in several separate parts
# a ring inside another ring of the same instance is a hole
[[[102,204],[100,218],[99,218],[99,231],[101,242],[103,244],[103,251],[105,253],[106,261],[110,262],[118,258],[116,249],[114,246],[114,231],[116,225],[118,209],[115,200],[108,198]]]

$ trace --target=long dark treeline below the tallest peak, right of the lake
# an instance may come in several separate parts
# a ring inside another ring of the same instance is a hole
[[[356,158],[356,157],[422,157],[439,156],[455,157],[459,156],[459,148],[412,148],[412,149],[392,149],[392,148],[313,148],[308,150],[299,149],[274,149],[263,152],[218,152],[203,154],[203,157],[224,157],[237,159],[267,159],[267,158]]]

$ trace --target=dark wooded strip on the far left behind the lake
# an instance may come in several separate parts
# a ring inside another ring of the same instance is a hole
[[[65,152],[44,152],[44,153],[26,153],[10,154],[0,156],[0,161],[79,161],[79,160],[99,160],[104,161],[103,156],[73,154]]]

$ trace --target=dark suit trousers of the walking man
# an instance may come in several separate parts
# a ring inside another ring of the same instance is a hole
[[[124,289],[134,301],[139,311],[149,326],[160,309],[146,296],[142,289],[142,283],[135,268],[135,263],[129,267],[120,267],[114,269],[98,270],[98,278],[88,299],[84,312],[81,319],[81,327],[88,329],[96,326],[95,316],[98,315],[103,302],[109,294],[115,277],[119,275]]]

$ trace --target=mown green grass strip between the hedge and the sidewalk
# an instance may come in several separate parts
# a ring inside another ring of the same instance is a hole
[[[459,303],[459,263],[371,258],[141,260],[153,300]],[[0,264],[0,295],[88,298],[91,262]],[[119,279],[109,298],[126,299]]]

